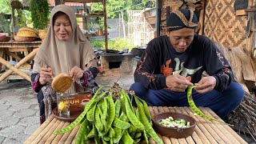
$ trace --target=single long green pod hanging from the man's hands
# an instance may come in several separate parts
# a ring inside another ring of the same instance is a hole
[[[219,121],[218,119],[211,118],[210,116],[208,116],[206,114],[203,114],[202,111],[199,110],[198,107],[194,104],[194,101],[193,101],[193,98],[192,98],[192,90],[194,89],[194,87],[195,86],[188,86],[188,88],[187,88],[187,101],[190,104],[191,110],[193,110],[200,117],[206,118],[209,121],[216,121],[216,122],[220,122],[220,123],[223,123],[223,124],[226,124],[226,125],[229,125],[229,126],[233,126],[233,125],[230,125],[230,124],[228,124],[226,122]]]

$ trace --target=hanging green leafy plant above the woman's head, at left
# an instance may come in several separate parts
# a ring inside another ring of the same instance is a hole
[[[34,28],[46,29],[50,14],[47,0],[30,0],[29,5]]]

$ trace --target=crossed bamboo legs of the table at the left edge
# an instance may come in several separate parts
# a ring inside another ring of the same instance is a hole
[[[27,62],[30,58],[33,58],[34,56],[35,56],[35,54],[37,54],[37,52],[38,52],[38,48],[37,49],[34,49],[30,54],[28,54],[25,58],[22,58],[22,60],[20,61],[20,62],[18,62],[15,66],[11,66],[10,65],[10,70],[7,70],[4,74],[2,74],[2,76],[0,77],[0,82],[2,82],[4,79],[6,79],[10,74],[12,74],[13,73],[13,71],[15,72],[15,73],[17,73],[17,71],[18,71],[18,73],[19,72],[22,72],[21,70],[18,70],[18,68],[20,67],[20,66],[22,66],[25,62]],[[6,60],[4,60],[4,59],[1,59],[1,61],[2,62],[6,62]],[[10,64],[9,62],[7,62],[7,63],[3,63],[5,66],[6,65],[8,65],[8,64]],[[17,74],[18,74],[17,73]],[[22,73],[24,73],[24,72],[22,72]],[[24,73],[25,74],[25,73]],[[19,75],[21,75],[22,77],[23,76],[28,76],[27,74],[26,75],[24,75],[24,74],[19,74]],[[24,77],[23,77],[24,78]],[[28,77],[26,77],[26,79],[28,80],[28,81],[30,81],[31,82],[31,80],[30,80],[30,76],[28,76]]]

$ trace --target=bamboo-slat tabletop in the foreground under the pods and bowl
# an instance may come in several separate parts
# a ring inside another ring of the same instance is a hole
[[[150,114],[158,114],[160,112],[178,112],[183,114],[190,114],[197,122],[194,133],[187,138],[166,138],[161,136],[162,140],[166,144],[170,143],[247,143],[244,141],[230,126],[220,124],[218,122],[209,122],[200,116],[194,116],[189,107],[149,107]],[[218,118],[216,114],[209,108],[200,108],[205,114],[211,115],[214,118]],[[220,118],[218,118],[220,119]],[[75,137],[79,127],[74,127],[73,130],[66,134],[52,134],[54,130],[59,130],[62,127],[66,127],[70,122],[61,122],[50,116],[34,134],[30,135],[30,138],[25,143],[75,143]],[[160,135],[159,135],[160,136]],[[150,138],[150,143],[155,143]]]

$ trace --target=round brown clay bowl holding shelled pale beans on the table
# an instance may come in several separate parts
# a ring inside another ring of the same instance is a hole
[[[158,124],[158,122],[161,122],[162,119],[169,118],[170,116],[173,117],[174,120],[184,119],[186,122],[190,122],[190,127],[166,127]],[[166,136],[169,138],[186,138],[194,133],[195,120],[194,118],[186,114],[172,112],[159,113],[155,114],[152,120],[154,123],[154,130],[156,130],[156,132],[158,132],[158,134],[161,134],[162,136]]]

